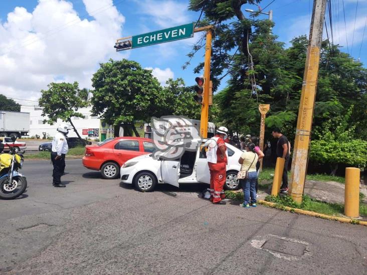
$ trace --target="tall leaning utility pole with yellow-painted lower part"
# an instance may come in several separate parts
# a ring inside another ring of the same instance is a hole
[[[299,103],[296,138],[292,160],[289,193],[294,201],[301,203],[306,178],[307,157],[315,105],[318,66],[326,0],[314,0],[306,66]]]

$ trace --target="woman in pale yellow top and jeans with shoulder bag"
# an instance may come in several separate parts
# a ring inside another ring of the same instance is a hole
[[[251,206],[256,207],[256,162],[258,155],[255,152],[255,144],[250,142],[247,144],[246,152],[244,152],[238,162],[241,165],[241,171],[248,171],[248,176],[245,179],[240,179],[240,183],[243,188],[244,202],[240,204],[241,207],[250,208],[250,195],[251,195]]]

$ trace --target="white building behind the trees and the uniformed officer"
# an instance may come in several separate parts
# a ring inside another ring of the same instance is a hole
[[[104,140],[113,137],[113,128],[105,125],[97,116],[91,115],[91,107],[78,109],[79,113],[84,115],[84,118],[73,117],[71,119],[79,135],[82,138]],[[60,119],[54,125],[44,124],[45,117],[42,116],[42,108],[22,106],[21,112],[30,113],[30,131],[29,135],[36,137],[40,136],[42,139],[44,135],[53,137],[56,134],[57,126],[62,123]],[[76,137],[73,130],[69,131],[69,137]]]

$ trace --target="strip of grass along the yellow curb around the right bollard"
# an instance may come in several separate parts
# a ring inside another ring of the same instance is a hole
[[[266,201],[274,202],[278,206],[288,206],[292,208],[298,208],[308,211],[314,211],[317,213],[322,213],[326,215],[342,215],[344,214],[344,205],[341,203],[328,203],[319,201],[316,199],[312,199],[307,195],[304,195],[302,198],[302,203],[297,204],[292,200],[292,198],[288,195],[284,196],[266,196]],[[362,203],[362,196],[359,199],[359,215],[363,217],[367,217],[367,204]]]

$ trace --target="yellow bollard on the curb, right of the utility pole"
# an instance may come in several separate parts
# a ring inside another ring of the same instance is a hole
[[[344,214],[353,218],[359,216],[359,174],[358,168],[345,168]]]

